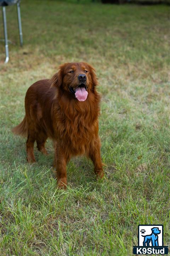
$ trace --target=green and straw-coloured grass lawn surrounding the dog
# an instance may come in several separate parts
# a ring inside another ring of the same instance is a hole
[[[10,61],[1,43],[0,255],[132,255],[138,224],[163,224],[170,245],[169,7],[23,0],[23,48],[16,6],[7,7]],[[2,30],[2,27],[1,27]],[[1,31],[3,32],[3,31]],[[68,188],[58,190],[49,156],[11,128],[24,96],[64,62],[97,71],[106,178],[72,159]]]

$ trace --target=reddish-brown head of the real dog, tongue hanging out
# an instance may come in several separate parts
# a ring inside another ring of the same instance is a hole
[[[65,63],[53,75],[51,86],[61,88],[78,101],[85,101],[89,91],[97,85],[95,69],[85,62]]]

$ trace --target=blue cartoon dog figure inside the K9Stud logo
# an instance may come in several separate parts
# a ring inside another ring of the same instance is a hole
[[[141,233],[145,233],[145,229],[141,230]],[[152,228],[151,235],[142,235],[144,237],[143,239],[143,246],[149,246],[150,242],[152,243],[152,246],[159,246],[158,242],[158,234],[160,234],[159,228]]]

